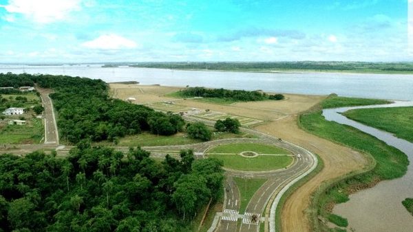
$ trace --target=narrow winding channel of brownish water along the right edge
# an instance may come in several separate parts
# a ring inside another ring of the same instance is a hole
[[[394,135],[352,121],[339,113],[357,108],[383,108],[413,106],[413,102],[395,102],[389,105],[357,106],[326,109],[324,117],[329,121],[353,126],[390,146],[407,154],[410,165],[407,173],[392,181],[381,181],[370,189],[350,195],[350,200],[335,206],[333,213],[348,219],[349,227],[356,231],[413,231],[413,217],[401,205],[405,198],[413,197],[413,143],[394,137]]]

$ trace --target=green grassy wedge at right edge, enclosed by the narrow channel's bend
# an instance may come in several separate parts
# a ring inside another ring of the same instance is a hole
[[[413,107],[363,108],[343,115],[413,142]]]

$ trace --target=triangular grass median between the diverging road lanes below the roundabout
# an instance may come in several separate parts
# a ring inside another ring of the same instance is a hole
[[[244,213],[248,202],[267,179],[235,177],[234,181],[237,183],[238,189],[240,189],[240,213]]]

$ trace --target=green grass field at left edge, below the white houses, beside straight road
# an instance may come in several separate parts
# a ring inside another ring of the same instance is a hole
[[[40,143],[43,138],[41,119],[28,120],[27,125],[5,125],[0,130],[0,144]]]

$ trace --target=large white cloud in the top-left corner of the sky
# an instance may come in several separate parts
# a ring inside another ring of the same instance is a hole
[[[65,19],[74,10],[81,10],[81,0],[9,0],[8,5],[0,7],[11,15],[23,14],[36,23],[51,23]]]

